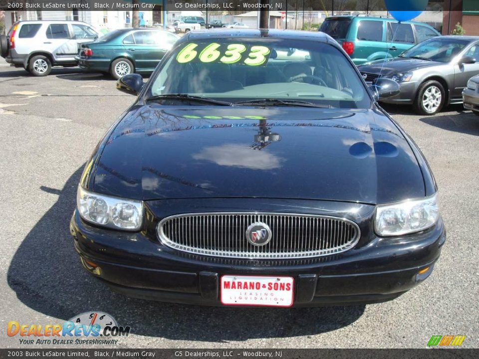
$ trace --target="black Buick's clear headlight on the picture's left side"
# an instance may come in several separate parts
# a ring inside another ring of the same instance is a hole
[[[143,222],[143,202],[97,194],[78,186],[76,206],[81,217],[114,229],[138,230]]]

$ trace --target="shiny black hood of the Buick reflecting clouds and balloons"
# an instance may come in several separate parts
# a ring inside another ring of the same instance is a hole
[[[96,192],[132,199],[424,196],[409,143],[375,110],[134,106],[111,132]]]

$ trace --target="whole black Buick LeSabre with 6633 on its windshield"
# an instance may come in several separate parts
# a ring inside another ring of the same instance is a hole
[[[446,233],[423,155],[323,33],[192,31],[80,179],[84,268],[125,295],[226,306],[387,301]]]

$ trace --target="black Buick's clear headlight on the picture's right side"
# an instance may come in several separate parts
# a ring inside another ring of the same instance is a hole
[[[375,230],[380,236],[419,232],[439,218],[436,194],[418,200],[381,204],[376,207]]]

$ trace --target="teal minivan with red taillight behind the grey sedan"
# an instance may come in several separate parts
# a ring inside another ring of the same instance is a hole
[[[339,42],[356,65],[396,57],[419,42],[441,36],[422,22],[359,15],[327,17],[319,31]]]

